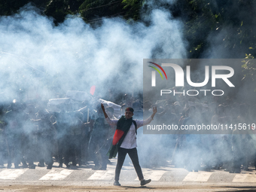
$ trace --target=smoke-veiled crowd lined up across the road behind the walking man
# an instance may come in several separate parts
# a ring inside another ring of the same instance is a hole
[[[111,101],[115,102],[115,101]],[[51,111],[45,102],[19,102],[0,109],[0,166],[7,168],[35,169],[53,162],[59,167],[87,166],[93,161],[93,169],[105,170],[110,163],[106,156],[114,136],[115,126],[105,120],[100,102],[81,102],[70,108],[59,104],[59,111]],[[133,107],[134,119],[148,117],[157,106],[156,122],[166,124],[195,123],[255,123],[255,106],[234,102],[232,99],[200,102],[197,99],[163,99],[159,101],[134,99],[126,96],[120,105],[120,114],[126,107]],[[80,109],[79,109],[80,108]],[[90,113],[88,113],[90,111]],[[119,119],[114,108],[105,105],[111,119]],[[155,122],[155,123],[156,123]],[[138,142],[145,140],[140,136]],[[240,172],[255,166],[256,140],[254,134],[168,134],[148,136],[157,138],[157,144],[144,148],[142,166],[163,166],[170,160],[172,165],[197,172],[199,169],[225,169]],[[154,141],[154,139],[152,140]],[[145,142],[145,141],[144,141]],[[160,150],[161,148],[161,150]],[[159,158],[161,157],[161,158]],[[161,160],[160,160],[161,159]],[[38,162],[35,164],[35,162]],[[63,166],[63,164],[65,166]]]

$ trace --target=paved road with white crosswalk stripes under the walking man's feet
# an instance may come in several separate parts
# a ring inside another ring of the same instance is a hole
[[[139,180],[133,166],[126,163],[120,175],[120,183],[124,187],[114,187],[112,184],[114,182],[115,165],[116,160],[111,160],[107,170],[93,170],[91,169],[92,164],[81,167],[71,166],[71,168],[67,169],[65,167],[58,168],[58,163],[54,163],[53,169],[50,170],[46,169],[46,166],[37,166],[35,169],[6,169],[5,165],[0,167],[0,186],[2,186],[0,190],[11,190],[12,188],[12,191],[14,191],[14,188],[18,187],[17,189],[20,191],[29,191],[27,190],[29,187],[26,187],[26,190],[23,190],[23,187],[19,187],[27,185],[30,187],[41,186],[39,187],[41,190],[31,191],[44,191],[42,190],[43,187],[49,186],[51,189],[53,189],[53,186],[72,186],[76,190],[86,186],[92,187],[90,191],[103,190],[96,187],[107,187],[110,191],[150,190],[152,187],[154,191],[205,191],[206,189],[209,191],[256,191],[256,172],[254,167],[251,167],[248,172],[241,172],[240,174],[224,172],[224,170],[206,172],[203,169],[199,172],[188,172],[186,169],[174,168],[171,165],[155,169],[142,168],[145,178],[151,178],[152,182],[147,187],[139,187]],[[125,187],[127,188],[125,189]],[[58,190],[57,188],[54,191],[70,190],[70,188],[67,188],[67,190],[64,188]],[[107,188],[104,188],[104,190],[107,190]],[[45,191],[50,190],[47,188]]]

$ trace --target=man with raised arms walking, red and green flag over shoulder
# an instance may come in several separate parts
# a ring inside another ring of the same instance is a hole
[[[123,166],[124,159],[126,154],[129,154],[131,160],[133,161],[133,166],[136,169],[139,181],[141,185],[148,184],[151,182],[151,179],[145,180],[142,174],[142,168],[139,165],[139,157],[137,152],[136,144],[136,133],[137,129],[140,126],[144,126],[154,118],[154,115],[157,113],[157,107],[153,108],[153,114],[148,117],[147,120],[133,120],[133,108],[126,108],[124,116],[120,117],[119,120],[111,120],[108,117],[108,114],[105,112],[104,105],[102,104],[102,111],[104,113],[105,119],[110,125],[117,125],[117,130],[114,133],[114,139],[111,145],[110,150],[108,151],[108,158],[111,159],[115,157],[118,152],[117,157],[117,166],[115,169],[114,176],[114,185],[120,186],[119,176],[120,170]]]

